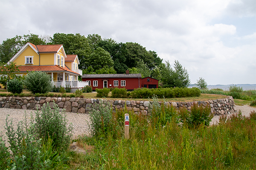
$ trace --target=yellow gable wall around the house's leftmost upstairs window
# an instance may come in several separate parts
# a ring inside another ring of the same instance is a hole
[[[39,55],[29,46],[13,62],[16,65],[25,65],[25,56],[34,56],[32,65],[39,65]]]

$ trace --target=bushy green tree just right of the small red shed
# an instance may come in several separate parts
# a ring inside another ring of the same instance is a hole
[[[185,88],[190,84],[187,70],[177,60],[175,60],[174,69],[167,61],[165,67],[161,70],[161,74],[164,87]]]

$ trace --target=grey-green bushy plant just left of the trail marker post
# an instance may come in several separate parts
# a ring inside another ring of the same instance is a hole
[[[112,110],[108,103],[101,100],[99,104],[93,105],[90,110],[90,131],[93,136],[105,136],[112,128]]]

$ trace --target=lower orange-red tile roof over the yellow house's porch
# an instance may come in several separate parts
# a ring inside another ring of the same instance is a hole
[[[73,74],[78,74],[75,71],[71,71],[68,68],[63,68],[58,65],[20,65],[18,66],[20,72],[27,72],[27,71],[45,71],[45,72],[61,72],[67,71]],[[79,74],[78,74],[79,75]]]

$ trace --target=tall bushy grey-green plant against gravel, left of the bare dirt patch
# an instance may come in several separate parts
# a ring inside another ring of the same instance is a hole
[[[53,105],[53,110],[49,103],[44,104],[41,112],[35,112],[35,119],[32,118],[35,124],[34,130],[38,134],[38,139],[47,141],[48,137],[52,139],[56,149],[66,149],[70,144],[72,136],[72,126],[68,125],[66,113],[59,112],[57,105]]]

